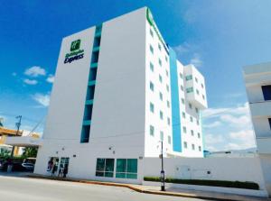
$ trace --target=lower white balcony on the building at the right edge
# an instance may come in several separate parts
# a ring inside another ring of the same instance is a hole
[[[271,115],[271,101],[270,100],[249,103],[249,105],[250,105],[251,115],[253,117]]]

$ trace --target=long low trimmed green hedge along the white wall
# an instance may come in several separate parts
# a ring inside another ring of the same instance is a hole
[[[144,177],[145,181],[161,182],[159,177]],[[165,178],[166,183],[173,184],[188,184],[201,185],[211,187],[236,187],[258,190],[259,186],[255,182],[249,181],[224,181],[224,180],[205,180],[205,179],[180,179],[180,178]]]

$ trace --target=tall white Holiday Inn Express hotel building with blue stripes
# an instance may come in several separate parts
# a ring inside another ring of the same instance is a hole
[[[65,37],[34,172],[140,183],[146,157],[203,157],[205,82],[146,7]],[[58,162],[57,162],[58,161]],[[58,172],[57,170],[57,172]]]

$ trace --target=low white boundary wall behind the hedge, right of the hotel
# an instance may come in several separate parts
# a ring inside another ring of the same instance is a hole
[[[165,176],[169,178],[253,181],[259,185],[260,189],[265,189],[258,158],[164,159],[164,170]],[[145,177],[159,177],[160,171],[160,159],[144,159]]]

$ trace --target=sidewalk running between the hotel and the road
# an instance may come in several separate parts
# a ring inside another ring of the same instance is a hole
[[[49,176],[43,176],[43,175],[37,175],[37,174],[29,174],[27,175],[27,177],[79,182],[79,183],[85,183],[85,184],[104,185],[104,186],[113,186],[113,187],[127,187],[140,193],[164,195],[164,196],[182,196],[182,197],[200,198],[200,199],[207,199],[207,200],[236,200],[236,201],[271,200],[269,198],[258,197],[258,196],[239,196],[235,194],[225,194],[225,193],[207,192],[207,191],[199,191],[199,190],[187,190],[187,189],[181,189],[181,188],[166,188],[165,189],[166,191],[160,191],[160,187],[153,187],[153,186],[113,183],[113,182],[104,182],[104,181],[96,181],[96,180],[84,180],[84,179],[77,179],[77,178],[58,178],[58,177],[52,178]]]

